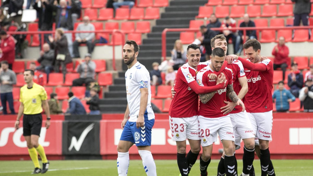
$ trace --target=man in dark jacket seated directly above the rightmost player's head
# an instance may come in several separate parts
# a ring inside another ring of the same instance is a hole
[[[255,27],[255,23],[250,20],[249,14],[246,13],[244,14],[244,21],[242,23],[240,23],[239,27]],[[256,39],[256,30],[247,30],[246,31],[246,36],[244,36],[244,31],[243,30],[239,30],[238,31],[238,36],[236,39],[236,51],[237,51],[237,55],[240,55],[240,52],[242,50],[242,47],[239,49],[240,44],[243,42],[244,37],[245,37],[245,41],[249,40],[249,39]]]

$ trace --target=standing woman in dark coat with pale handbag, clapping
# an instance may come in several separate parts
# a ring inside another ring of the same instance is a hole
[[[64,35],[64,30],[62,28],[57,28],[55,30],[55,39],[49,35],[49,41],[51,43],[51,49],[54,49],[54,71],[58,73],[61,66],[65,80],[66,64],[72,62],[72,57],[69,54],[68,43],[66,36]]]

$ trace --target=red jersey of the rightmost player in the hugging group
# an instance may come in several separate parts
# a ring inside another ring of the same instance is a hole
[[[246,111],[252,113],[273,110],[273,62],[266,59],[258,64],[266,65],[267,70],[252,71],[244,69],[249,87],[244,98],[244,105],[246,106]]]

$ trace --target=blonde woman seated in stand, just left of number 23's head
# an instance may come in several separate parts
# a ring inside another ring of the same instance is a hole
[[[171,54],[172,60],[174,61],[173,68],[174,70],[178,70],[178,68],[184,65],[187,61],[187,51],[182,48],[182,40],[175,41]]]

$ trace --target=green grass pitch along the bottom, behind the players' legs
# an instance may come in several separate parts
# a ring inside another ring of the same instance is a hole
[[[158,176],[178,176],[176,160],[155,160]],[[217,175],[219,160],[212,160],[209,167],[209,176]],[[313,160],[272,160],[278,176],[312,175]],[[259,159],[254,160],[256,175],[260,173]],[[31,161],[0,161],[0,176],[25,176],[33,171]],[[242,160],[238,160],[238,173],[242,171]],[[117,175],[116,160],[51,160],[50,168],[45,176],[115,176]],[[141,160],[131,160],[128,176],[145,176]],[[189,176],[199,176],[199,160],[192,167]]]

